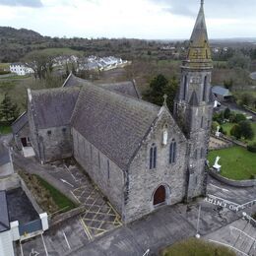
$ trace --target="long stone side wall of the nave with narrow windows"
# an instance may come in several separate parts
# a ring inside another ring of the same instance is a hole
[[[124,198],[123,171],[74,128],[72,129],[72,134],[75,159],[87,171],[102,193],[107,196],[111,204],[121,214]]]

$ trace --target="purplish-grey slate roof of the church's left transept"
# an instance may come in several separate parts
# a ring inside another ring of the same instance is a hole
[[[69,124],[79,92],[79,87],[32,91],[35,125],[43,129]]]

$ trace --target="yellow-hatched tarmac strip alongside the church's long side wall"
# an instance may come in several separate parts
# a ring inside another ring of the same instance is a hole
[[[80,223],[90,240],[122,225],[119,214],[79,166],[58,164],[53,165],[50,171],[70,188],[76,201],[85,206],[86,211],[80,216]]]

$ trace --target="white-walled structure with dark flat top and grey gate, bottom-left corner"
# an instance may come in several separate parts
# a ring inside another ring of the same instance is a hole
[[[1,256],[14,256],[15,241],[21,242],[48,229],[47,214],[37,214],[22,188],[0,190],[0,206]]]

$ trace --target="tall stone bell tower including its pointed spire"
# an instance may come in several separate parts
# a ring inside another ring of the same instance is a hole
[[[188,201],[203,195],[206,189],[205,162],[213,115],[212,69],[204,1],[201,0],[187,58],[181,65],[179,92],[174,100],[174,116],[188,139]]]

